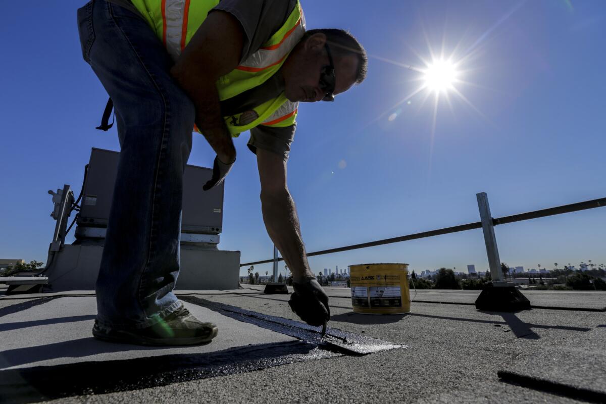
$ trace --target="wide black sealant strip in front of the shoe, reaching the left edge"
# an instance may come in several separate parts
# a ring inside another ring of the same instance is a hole
[[[215,353],[78,362],[0,371],[0,403],[33,403],[105,394],[245,373],[342,356],[301,341],[225,349]]]

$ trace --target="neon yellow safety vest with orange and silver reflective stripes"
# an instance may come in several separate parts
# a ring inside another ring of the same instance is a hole
[[[132,0],[155,31],[174,61],[181,55],[208,12],[219,0]],[[231,98],[257,87],[282,67],[290,51],[305,33],[301,4],[290,13],[282,27],[259,50],[216,82],[219,99]],[[257,125],[288,127],[295,123],[298,102],[290,102],[284,91],[267,102],[233,116],[224,116],[231,136]]]

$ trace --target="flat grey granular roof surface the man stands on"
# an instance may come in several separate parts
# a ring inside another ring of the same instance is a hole
[[[419,291],[410,314],[373,316],[353,313],[348,288],[327,288],[329,337],[396,346],[355,354],[320,342],[319,329],[291,312],[289,296],[262,290],[177,291],[192,313],[219,326],[213,342],[190,348],[93,339],[91,291],[0,296],[0,397],[61,403],[606,400],[606,292],[525,291],[535,308],[498,313],[475,309],[479,291]],[[297,325],[300,333],[293,331]],[[54,389],[41,379],[55,380]]]

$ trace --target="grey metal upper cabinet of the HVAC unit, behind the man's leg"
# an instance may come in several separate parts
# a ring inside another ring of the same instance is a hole
[[[120,153],[93,148],[84,183],[78,225],[107,227]],[[187,165],[183,176],[182,233],[219,234],[223,225],[223,188],[209,191],[202,185],[210,180],[211,168]]]

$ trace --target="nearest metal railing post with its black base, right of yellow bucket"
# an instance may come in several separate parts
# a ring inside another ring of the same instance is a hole
[[[488,196],[485,192],[476,194],[478,197],[478,209],[482,220],[484,231],[484,242],[490,276],[492,282],[484,286],[482,293],[476,299],[476,309],[488,311],[518,311],[530,309],[530,301],[516,289],[513,282],[504,282],[501,270],[501,259],[499,249],[496,247],[496,236],[494,236],[494,222],[488,206]]]

